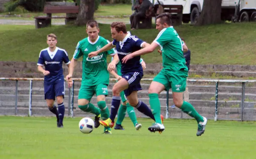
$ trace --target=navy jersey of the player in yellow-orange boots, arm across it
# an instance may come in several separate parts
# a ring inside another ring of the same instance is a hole
[[[122,59],[126,55],[140,50],[143,43],[143,40],[131,35],[128,31],[128,34],[122,41],[113,40],[112,45],[116,45],[116,52],[120,62],[122,63]],[[140,64],[140,56],[136,56],[128,60],[126,63],[122,63],[121,73],[125,74],[127,72],[143,72],[143,68]]]

